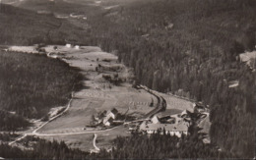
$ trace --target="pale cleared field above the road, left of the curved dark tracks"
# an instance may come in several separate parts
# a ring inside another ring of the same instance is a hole
[[[23,47],[21,49],[24,49]],[[29,48],[29,50],[32,50]],[[75,49],[65,46],[45,47],[50,56],[57,56],[65,59],[72,67],[82,70],[87,80],[84,81],[86,88],[75,92],[71,102],[71,107],[65,115],[45,125],[38,133],[77,133],[83,131],[86,125],[90,125],[92,115],[99,111],[116,108],[119,112],[128,113],[138,112],[148,113],[151,109],[149,104],[152,100],[157,103],[156,97],[144,90],[132,88],[131,84],[122,82],[120,85],[111,84],[102,78],[103,74],[115,74],[113,71],[96,72],[96,67],[101,66],[120,66],[117,64],[117,57],[100,51],[97,47],[81,47]],[[107,61],[105,61],[107,60]],[[128,79],[127,70],[120,70],[118,77]],[[111,87],[103,87],[109,84]]]

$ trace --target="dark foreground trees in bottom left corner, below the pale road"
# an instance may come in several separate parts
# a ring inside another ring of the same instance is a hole
[[[17,146],[0,143],[0,156],[3,158],[29,158],[29,159],[86,159],[88,152],[79,149],[71,149],[64,141],[47,141],[30,137],[32,144],[22,150]],[[33,141],[33,142],[32,142]],[[25,141],[29,143],[29,141]],[[30,149],[32,147],[32,149]]]

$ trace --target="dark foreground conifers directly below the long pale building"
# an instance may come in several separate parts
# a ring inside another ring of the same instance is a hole
[[[93,158],[109,159],[164,159],[164,158],[224,158],[235,155],[218,151],[212,144],[205,144],[198,133],[181,138],[160,131],[149,134],[133,133],[114,139],[111,151],[100,150]]]

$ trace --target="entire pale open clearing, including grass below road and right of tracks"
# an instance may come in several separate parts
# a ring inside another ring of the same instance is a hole
[[[149,106],[150,103],[154,102],[156,104],[158,102],[154,95],[144,89],[133,88],[132,84],[128,82],[133,77],[130,70],[119,64],[115,55],[103,52],[98,47],[57,46],[56,49],[55,46],[54,49],[54,46],[46,46],[44,49],[49,57],[60,58],[71,67],[79,68],[86,80],[83,81],[85,87],[74,93],[70,109],[61,117],[50,121],[37,131],[37,133],[56,135],[41,137],[64,140],[71,147],[90,150],[94,148],[94,133],[86,133],[84,128],[90,125],[92,115],[100,111],[116,108],[120,113],[128,111],[128,114],[136,113],[136,115],[143,116],[154,109],[154,107]],[[10,50],[36,52],[34,46],[13,46],[10,47]],[[100,66],[103,69],[96,71],[96,68],[98,69]],[[102,75],[113,76],[116,74],[122,80],[118,85],[114,85],[102,78]],[[167,103],[166,111],[161,112],[160,116],[180,113],[184,109],[192,110],[192,102],[190,101],[160,92],[157,93],[165,98]],[[58,135],[58,133],[60,134]],[[128,134],[128,129],[122,126],[110,131],[97,133],[96,145],[109,148],[111,140],[117,135]]]

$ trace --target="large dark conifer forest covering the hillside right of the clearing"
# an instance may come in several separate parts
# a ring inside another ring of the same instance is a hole
[[[238,54],[255,46],[254,0],[139,1],[91,19],[92,44],[117,51],[137,82],[210,105],[211,140],[252,157],[255,72]],[[237,87],[228,87],[233,81]]]

